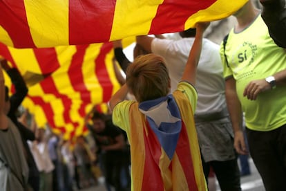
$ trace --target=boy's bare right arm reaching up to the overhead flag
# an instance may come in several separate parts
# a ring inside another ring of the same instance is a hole
[[[196,39],[193,42],[187,64],[184,68],[182,81],[187,81],[193,85],[196,84],[196,67],[200,60],[200,53],[202,51],[202,37],[204,30],[209,26],[209,22],[196,24]]]

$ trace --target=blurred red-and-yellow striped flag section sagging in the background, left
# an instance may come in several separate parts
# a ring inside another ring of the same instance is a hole
[[[113,69],[112,43],[56,48],[11,48],[0,44],[0,53],[20,71],[28,85],[23,107],[35,116],[39,127],[48,123],[65,138],[86,132],[86,113],[97,104],[106,104],[120,88]],[[5,78],[11,87],[8,75]]]

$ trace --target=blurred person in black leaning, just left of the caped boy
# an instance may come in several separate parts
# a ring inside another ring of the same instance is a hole
[[[91,124],[88,118],[91,118]],[[92,109],[86,116],[86,125],[96,143],[106,189],[130,190],[130,152],[125,132],[113,125],[110,115],[100,113],[96,109]]]

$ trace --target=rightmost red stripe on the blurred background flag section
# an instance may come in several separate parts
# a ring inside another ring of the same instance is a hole
[[[112,42],[108,42],[102,45],[100,48],[99,55],[95,59],[95,74],[97,75],[97,79],[99,84],[103,89],[103,100],[102,102],[108,102],[111,99],[112,91],[113,91],[113,84],[109,79],[108,71],[106,69],[105,60],[106,54],[109,53],[113,48]],[[112,61],[111,61],[112,62]]]

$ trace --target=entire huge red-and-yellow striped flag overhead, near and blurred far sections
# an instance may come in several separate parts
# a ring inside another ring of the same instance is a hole
[[[82,134],[90,108],[120,87],[111,41],[223,19],[247,1],[3,0],[0,55],[28,84],[23,106],[37,124],[48,122],[68,138]]]

